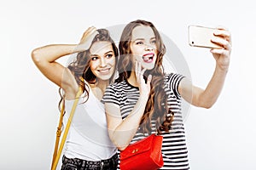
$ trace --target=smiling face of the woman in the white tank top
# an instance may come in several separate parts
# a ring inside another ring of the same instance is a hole
[[[94,42],[90,47],[90,70],[100,80],[108,81],[114,72],[115,55],[111,42]]]

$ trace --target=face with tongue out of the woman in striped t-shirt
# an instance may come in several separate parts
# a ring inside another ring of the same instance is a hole
[[[131,35],[131,53],[133,59],[141,62],[143,68],[151,70],[157,59],[157,48],[154,31],[150,26],[137,26]]]

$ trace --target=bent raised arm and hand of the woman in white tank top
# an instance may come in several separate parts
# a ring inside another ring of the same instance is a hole
[[[96,28],[90,27],[84,31],[79,44],[50,44],[32,50],[32,60],[35,65],[51,82],[64,89],[67,98],[75,96],[78,84],[71,71],[56,62],[56,59],[88,49],[95,35]]]

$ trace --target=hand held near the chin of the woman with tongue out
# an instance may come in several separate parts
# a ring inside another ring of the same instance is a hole
[[[148,95],[149,95],[150,89],[151,89],[150,82],[152,80],[152,76],[148,75],[148,79],[147,79],[147,83],[146,83],[143,78],[144,72],[146,70],[147,69],[142,68],[141,62],[138,62],[137,60],[135,61],[135,74],[137,77],[137,84],[139,85],[140,95],[143,97],[147,97],[147,99],[148,99]]]

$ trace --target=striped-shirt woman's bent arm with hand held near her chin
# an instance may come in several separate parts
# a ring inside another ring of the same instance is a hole
[[[149,75],[147,83],[145,83],[143,80],[144,71],[145,70],[143,70],[141,74],[137,73],[136,75],[137,82],[139,82],[140,96],[137,100],[137,104],[125,119],[122,119],[119,105],[105,103],[109,137],[119,150],[125,150],[126,146],[130,144],[131,139],[133,139],[134,135],[137,133],[145,106],[147,105],[152,77]]]

